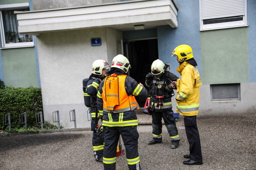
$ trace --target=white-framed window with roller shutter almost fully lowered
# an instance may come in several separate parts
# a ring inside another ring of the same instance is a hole
[[[199,0],[200,31],[247,25],[247,0]]]

